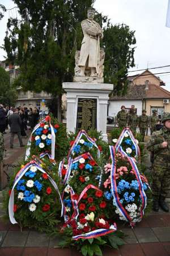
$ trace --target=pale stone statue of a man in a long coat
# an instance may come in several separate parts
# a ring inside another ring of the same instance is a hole
[[[82,21],[83,41],[80,50],[80,58],[78,66],[80,67],[79,75],[85,76],[85,69],[91,69],[91,77],[99,74],[100,65],[100,39],[103,33],[99,23],[95,22],[95,9],[88,9],[87,18]]]

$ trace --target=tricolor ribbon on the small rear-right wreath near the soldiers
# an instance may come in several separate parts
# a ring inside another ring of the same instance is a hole
[[[139,149],[139,146],[137,145],[137,143],[135,142],[135,138],[133,136],[133,133],[130,131],[129,128],[125,128],[122,132],[121,132],[121,135],[120,137],[118,138],[118,141],[116,143],[116,145],[114,146],[114,148],[116,149],[116,152],[118,150],[120,150],[121,148],[121,143],[122,141],[124,140],[124,137],[125,137],[125,134],[128,134],[128,136],[130,137],[131,141],[133,142],[133,145],[135,147],[135,156],[138,157],[138,161],[140,161],[140,156],[141,156],[141,153],[140,153],[140,149]],[[124,154],[126,157],[128,157],[128,154],[121,148],[121,152],[122,154]]]

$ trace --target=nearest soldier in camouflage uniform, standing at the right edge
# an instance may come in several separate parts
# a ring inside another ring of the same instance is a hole
[[[152,194],[154,196],[154,211],[168,212],[165,198],[168,195],[170,183],[170,113],[163,115],[163,128],[154,132],[148,142],[147,149],[154,153],[152,170]]]

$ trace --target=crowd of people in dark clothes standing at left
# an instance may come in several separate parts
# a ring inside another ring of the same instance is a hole
[[[10,126],[10,148],[14,146],[14,136],[18,135],[20,146],[23,145],[22,137],[27,138],[29,126],[31,130],[39,123],[39,110],[27,107],[8,107],[0,104],[0,133],[5,134]]]

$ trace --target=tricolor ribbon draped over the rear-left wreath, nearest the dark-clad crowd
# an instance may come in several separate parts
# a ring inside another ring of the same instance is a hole
[[[46,116],[45,119],[43,119],[39,124],[37,124],[35,126],[35,128],[33,129],[32,133],[31,133],[31,136],[29,137],[29,140],[28,140],[28,143],[27,143],[27,149],[26,149],[26,154],[25,154],[25,160],[28,159],[28,157],[30,156],[30,150],[31,150],[31,142],[32,142],[32,135],[33,133],[36,131],[37,128],[40,127],[40,124],[41,123],[44,123],[45,121],[49,121],[49,126],[51,128],[51,134],[52,134],[52,146],[51,146],[51,150],[52,150],[52,156],[51,158],[54,160],[54,157],[55,157],[55,141],[56,141],[56,135],[55,135],[55,132],[54,132],[54,128],[53,126],[51,125],[50,123],[50,116]]]

